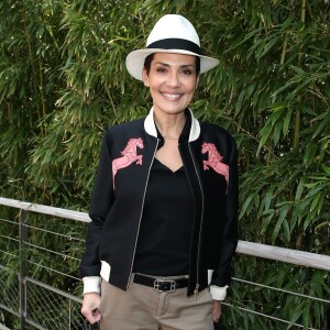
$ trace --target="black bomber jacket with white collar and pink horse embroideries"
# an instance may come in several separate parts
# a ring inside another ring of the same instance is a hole
[[[238,162],[235,143],[226,130],[196,120],[189,109],[186,117],[178,147],[195,200],[187,290],[191,295],[208,285],[229,285],[238,244]],[[80,277],[89,286],[101,276],[128,288],[150,170],[163,143],[153,109],[145,119],[106,131],[80,264]]]

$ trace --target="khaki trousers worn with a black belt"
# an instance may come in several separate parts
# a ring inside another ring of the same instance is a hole
[[[212,301],[209,289],[195,299],[187,288],[160,293],[131,283],[124,292],[102,280],[100,330],[211,330]]]

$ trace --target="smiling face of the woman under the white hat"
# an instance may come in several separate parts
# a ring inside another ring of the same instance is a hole
[[[190,103],[198,84],[196,58],[155,53],[150,73],[144,68],[142,76],[144,85],[150,87],[156,112],[180,113]]]

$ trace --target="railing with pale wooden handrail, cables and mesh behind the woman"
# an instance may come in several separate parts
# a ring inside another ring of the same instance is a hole
[[[0,197],[0,206],[10,207],[19,209],[18,220],[12,221],[10,219],[0,219],[3,223],[9,226],[16,226],[19,228],[18,235],[8,237],[2,235],[2,239],[11,241],[12,244],[18,245],[19,253],[10,251],[0,251],[4,253],[10,258],[15,258],[19,256],[16,263],[19,267],[19,276],[16,282],[11,280],[10,287],[8,287],[8,274],[10,270],[8,267],[0,266],[0,287],[6,288],[6,294],[1,295],[0,298],[0,309],[2,308],[7,312],[16,317],[20,320],[20,329],[28,329],[28,327],[34,327],[34,329],[82,329],[84,319],[80,315],[80,304],[81,299],[76,295],[69,294],[63,289],[55,288],[54,285],[47,285],[42,280],[36,280],[33,276],[29,276],[29,270],[31,265],[34,270],[43,270],[44,272],[51,274],[53,272],[59,273],[66,280],[72,280],[79,287],[79,279],[70,274],[58,272],[55,267],[45,265],[41,263],[37,258],[29,258],[28,250],[33,248],[42,251],[43,253],[52,254],[53,258],[59,257],[62,260],[70,260],[72,262],[78,262],[79,257],[68,255],[68,253],[63,251],[55,251],[50,248],[41,246],[30,241],[29,230],[42,231],[44,234],[51,234],[61,237],[67,241],[84,242],[84,239],[75,237],[70,232],[61,233],[58,230],[41,229],[40,227],[32,226],[28,221],[28,216],[30,213],[34,215],[46,215],[48,218],[54,218],[55,227],[59,220],[58,218],[66,219],[66,221],[78,221],[79,223],[88,223],[90,221],[89,217],[85,212],[72,211],[61,208],[47,207],[42,205],[35,205],[30,202],[18,201],[8,198]],[[0,216],[1,217],[1,216]],[[57,222],[56,222],[57,221]],[[1,224],[0,224],[1,226]],[[283,249],[277,246],[271,246],[265,244],[257,244],[252,242],[239,241],[237,252],[242,255],[257,256],[273,261],[280,261],[294,265],[308,266],[318,270],[330,271],[330,256],[319,255],[315,253],[295,251],[289,249]],[[12,272],[11,272],[12,274]],[[52,275],[50,275],[52,276]],[[277,290],[279,293],[285,293],[289,295],[295,295],[298,297],[321,301],[329,304],[330,300],[321,299],[318,297],[301,295],[292,290],[286,290],[283,288],[276,288],[273,286],[267,286],[258,284],[255,282],[249,282],[243,278],[233,278],[234,282],[246,284],[249,286],[255,286],[264,289]],[[19,298],[18,298],[19,297]],[[226,306],[232,307],[231,304],[223,302]],[[261,311],[249,310],[248,308],[237,307],[238,309],[244,310],[244,312],[251,312],[260,317],[265,317],[273,319],[274,321],[282,322],[283,324],[295,326],[297,328],[304,328],[299,323],[290,322],[282,318],[276,318]],[[0,329],[6,324],[1,324]],[[6,328],[2,328],[6,329]],[[31,329],[31,328],[29,328]],[[314,328],[308,328],[314,329]],[[326,329],[326,328],[324,328]]]

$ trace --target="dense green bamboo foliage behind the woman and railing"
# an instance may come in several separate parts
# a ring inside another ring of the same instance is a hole
[[[105,128],[151,107],[125,56],[158,18],[180,13],[221,62],[201,76],[191,108],[238,142],[240,239],[329,254],[329,12],[326,0],[1,1],[0,196],[88,209]],[[235,257],[234,276],[330,294],[324,272],[251,257]],[[238,307],[321,327],[321,302],[238,283],[230,296]],[[229,307],[223,322],[284,329]]]

